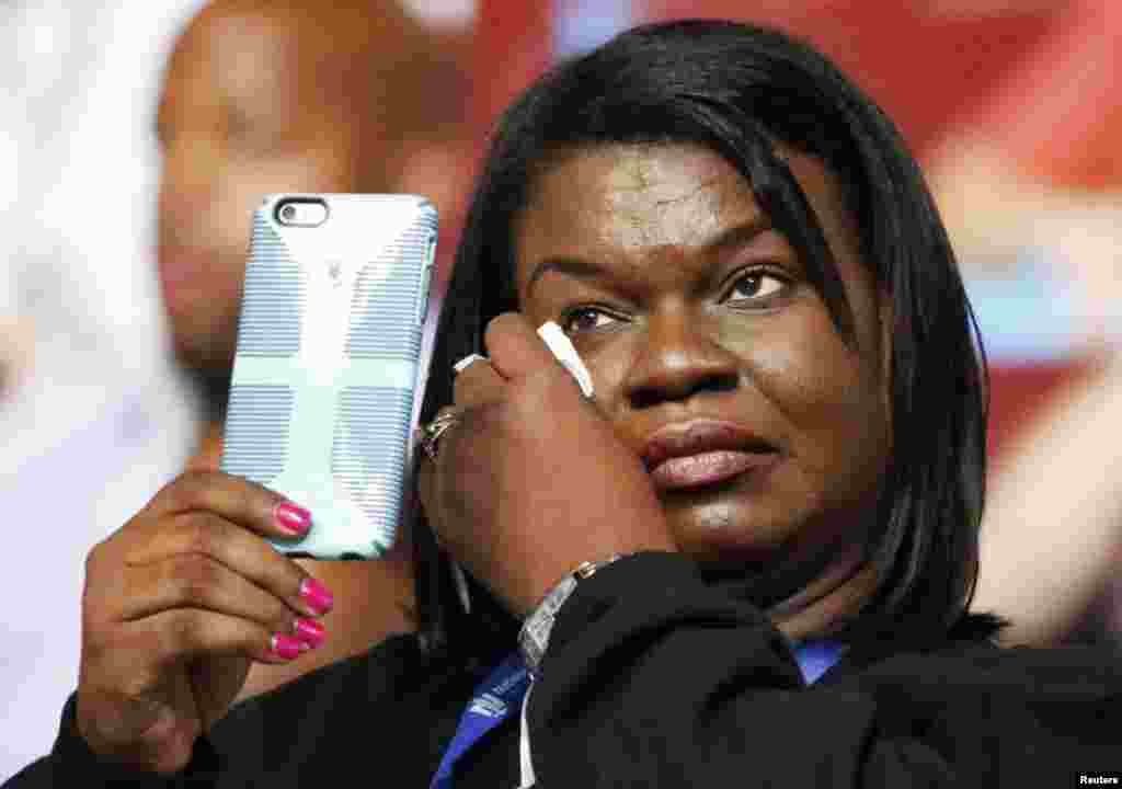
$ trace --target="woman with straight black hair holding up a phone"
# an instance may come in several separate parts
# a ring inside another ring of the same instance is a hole
[[[16,786],[300,786],[371,747],[440,787],[1116,767],[1116,655],[1002,652],[965,613],[973,337],[914,163],[827,62],[742,25],[625,34],[493,144],[424,409],[421,632],[228,712],[330,599],[258,536],[306,513],[183,477],[91,553],[79,690]]]

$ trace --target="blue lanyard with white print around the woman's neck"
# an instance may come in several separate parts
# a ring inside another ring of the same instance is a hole
[[[794,659],[807,685],[813,685],[838,661],[844,651],[831,641],[810,641],[794,648]],[[444,751],[430,789],[451,789],[452,767],[468,750],[503,723],[522,704],[530,687],[530,672],[515,650],[476,686],[468,708],[460,716],[452,743]]]

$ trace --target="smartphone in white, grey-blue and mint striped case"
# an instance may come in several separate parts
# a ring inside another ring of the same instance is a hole
[[[311,511],[285,553],[377,558],[412,516],[436,229],[406,194],[273,194],[254,213],[220,468]]]

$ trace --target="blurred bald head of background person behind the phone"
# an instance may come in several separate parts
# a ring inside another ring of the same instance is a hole
[[[402,177],[410,155],[432,139],[417,128],[425,91],[410,66],[422,34],[376,6],[313,15],[286,3],[215,3],[171,58],[158,112],[159,284],[176,357],[217,409],[233,363],[251,214],[264,195],[425,187]],[[441,97],[430,91],[427,101]]]

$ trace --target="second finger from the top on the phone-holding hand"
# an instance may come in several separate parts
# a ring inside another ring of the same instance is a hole
[[[224,579],[220,572],[224,569],[292,611],[319,616],[327,609],[322,595],[310,594],[315,581],[300,565],[223,517],[209,512],[182,513],[172,516],[151,538],[132,545],[125,556],[126,567],[139,570],[138,578],[163,572],[165,587],[196,591],[209,581]],[[174,575],[174,570],[181,575]],[[145,600],[142,608],[159,609],[159,600],[168,599],[168,595],[174,593],[156,594],[153,600]]]

